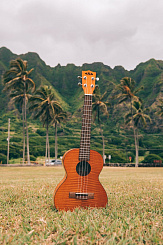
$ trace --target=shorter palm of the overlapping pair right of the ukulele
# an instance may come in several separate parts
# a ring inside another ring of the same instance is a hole
[[[139,159],[139,137],[138,137],[138,129],[139,127],[142,126],[147,126],[147,120],[150,122],[151,119],[150,117],[145,114],[145,112],[147,111],[144,110],[143,111],[143,105],[140,101],[134,101],[133,102],[133,112],[129,112],[126,114],[125,116],[125,123],[129,124],[129,123],[134,123],[134,128],[135,128],[135,149],[136,149],[136,159]],[[139,160],[136,162],[135,167],[138,167],[139,164]]]

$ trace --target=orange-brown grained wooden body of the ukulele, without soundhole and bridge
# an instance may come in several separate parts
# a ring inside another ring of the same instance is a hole
[[[63,156],[66,175],[57,185],[54,192],[54,205],[58,210],[73,210],[76,207],[106,207],[107,194],[99,181],[99,174],[103,168],[102,156],[90,150],[91,172],[87,176],[80,176],[76,172],[79,163],[79,149],[72,149]],[[69,198],[69,193],[94,193],[93,199],[80,200]]]

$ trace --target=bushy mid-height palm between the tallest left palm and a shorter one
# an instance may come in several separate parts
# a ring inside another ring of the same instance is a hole
[[[46,125],[46,163],[47,158],[50,161],[49,125],[53,122],[55,115],[62,110],[62,107],[57,101],[54,101],[54,93],[52,88],[48,86],[40,87],[30,98],[30,104],[29,110],[33,111],[34,119],[40,118],[43,127]]]

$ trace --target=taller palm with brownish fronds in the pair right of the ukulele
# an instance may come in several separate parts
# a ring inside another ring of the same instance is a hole
[[[136,140],[136,131],[135,131],[135,125],[134,125],[134,118],[133,118],[133,101],[139,101],[139,97],[136,95],[140,90],[143,89],[143,87],[140,87],[138,89],[135,88],[136,82],[134,79],[130,77],[124,77],[120,81],[120,84],[117,86],[118,90],[120,90],[119,95],[117,98],[119,98],[119,103],[129,101],[130,103],[130,111],[131,111],[131,123],[134,131],[134,140],[135,140],[135,152],[136,152],[136,164],[135,167],[139,164],[138,159],[138,152],[137,152],[137,140]]]

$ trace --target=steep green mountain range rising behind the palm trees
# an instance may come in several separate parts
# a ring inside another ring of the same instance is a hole
[[[40,59],[36,53],[29,52],[27,54],[16,55],[5,47],[0,48],[0,152],[6,154],[6,135],[7,135],[7,120],[11,118],[11,131],[14,135],[14,144],[18,150],[13,157],[21,155],[22,134],[21,132],[21,115],[6,93],[3,92],[2,75],[9,68],[9,63],[17,57],[28,61],[28,68],[34,68],[32,79],[38,88],[40,85],[52,86],[56,100],[58,100],[63,108],[69,112],[69,119],[66,124],[59,128],[59,154],[63,154],[66,150],[74,147],[79,147],[80,128],[81,128],[81,107],[83,105],[83,91],[78,87],[77,76],[81,75],[82,70],[92,70],[97,72],[100,78],[98,85],[101,93],[107,91],[107,98],[111,102],[109,108],[109,119],[103,117],[103,129],[106,139],[106,154],[114,155],[113,151],[124,150],[128,154],[134,152],[133,138],[126,136],[131,135],[132,130],[127,129],[123,122],[123,116],[127,112],[127,105],[117,105],[114,99],[116,94],[116,85],[120,79],[125,76],[132,77],[137,84],[137,87],[144,86],[144,90],[139,93],[140,98],[144,101],[145,107],[150,107],[150,116],[152,123],[146,128],[140,130],[140,154],[146,152],[156,153],[161,152],[161,119],[157,116],[156,110],[161,98],[163,89],[163,61],[151,59],[145,63],[140,63],[134,70],[127,71],[122,66],[116,66],[114,69],[100,62],[92,64],[83,64],[75,66],[67,64],[56,67],[50,67]],[[29,115],[30,116],[30,115]],[[33,121],[29,117],[30,124],[30,144],[33,145],[32,155],[37,156],[44,154],[44,140],[41,145],[35,140],[37,137],[44,137],[45,129],[38,121]],[[51,127],[51,152],[54,155],[54,129]],[[95,139],[94,137],[98,136]],[[70,137],[70,138],[69,138]],[[72,137],[77,137],[77,139]],[[38,138],[37,138],[38,139]],[[42,138],[43,139],[43,138]],[[75,140],[74,140],[75,139]],[[37,147],[36,145],[37,144]],[[14,148],[14,147],[13,147]],[[40,150],[40,148],[42,150]],[[101,138],[97,124],[92,124],[92,148],[101,152]],[[15,149],[15,148],[14,148]],[[14,150],[13,150],[14,151]],[[126,156],[124,156],[125,158]]]

